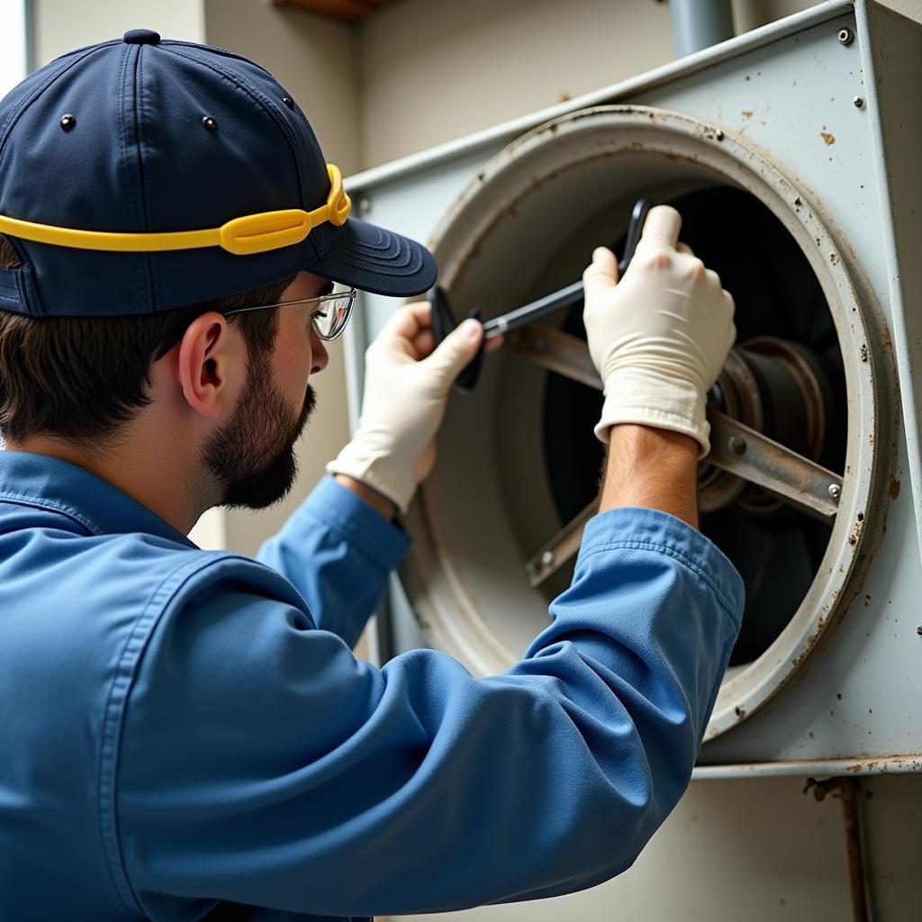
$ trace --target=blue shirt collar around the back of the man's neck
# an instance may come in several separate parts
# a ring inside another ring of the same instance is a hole
[[[94,535],[141,532],[195,544],[160,515],[89,470],[51,455],[0,451],[0,502],[47,509]]]

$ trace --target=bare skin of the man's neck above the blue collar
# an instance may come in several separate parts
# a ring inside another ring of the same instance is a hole
[[[155,431],[137,431],[132,423],[116,439],[95,444],[35,435],[7,442],[6,448],[50,455],[83,467],[147,506],[183,535],[218,502],[202,482],[195,458],[183,457],[181,444]]]

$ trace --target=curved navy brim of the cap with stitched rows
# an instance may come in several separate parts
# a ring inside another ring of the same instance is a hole
[[[420,243],[350,218],[337,242],[308,271],[372,294],[411,297],[435,284],[438,270]]]

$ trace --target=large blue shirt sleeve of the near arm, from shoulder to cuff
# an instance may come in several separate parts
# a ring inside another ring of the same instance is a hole
[[[607,880],[688,784],[742,608],[706,538],[613,510],[526,657],[477,680],[431,650],[357,661],[265,572],[190,590],[131,691],[119,834],[154,918],[203,894],[371,916]]]

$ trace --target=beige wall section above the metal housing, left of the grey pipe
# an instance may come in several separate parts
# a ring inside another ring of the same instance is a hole
[[[360,29],[366,166],[467,135],[672,57],[653,0],[402,0]]]

